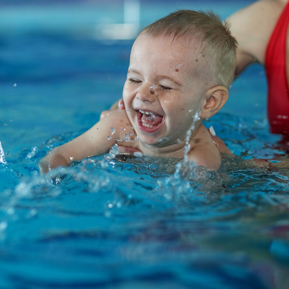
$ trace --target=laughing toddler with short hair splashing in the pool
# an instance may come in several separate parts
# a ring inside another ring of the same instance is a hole
[[[184,158],[218,170],[221,154],[202,124],[228,98],[236,40],[213,13],[180,10],[144,28],[130,55],[125,110],[115,110],[39,162],[41,173],[102,155],[112,145]]]

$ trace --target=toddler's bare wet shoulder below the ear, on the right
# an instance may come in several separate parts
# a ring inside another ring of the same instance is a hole
[[[191,141],[188,159],[213,171],[217,171],[221,166],[221,153],[204,125],[199,127]]]

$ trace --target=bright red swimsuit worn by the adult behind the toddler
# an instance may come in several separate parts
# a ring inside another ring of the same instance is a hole
[[[286,76],[286,36],[289,1],[268,42],[265,69],[268,82],[268,119],[271,132],[289,134],[289,88]]]

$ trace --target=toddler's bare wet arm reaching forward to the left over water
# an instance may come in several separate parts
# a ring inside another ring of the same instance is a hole
[[[49,152],[39,162],[40,172],[47,173],[49,168],[68,166],[73,160],[107,153],[110,147],[118,142],[116,139],[123,139],[130,126],[125,110],[115,111],[84,134]]]

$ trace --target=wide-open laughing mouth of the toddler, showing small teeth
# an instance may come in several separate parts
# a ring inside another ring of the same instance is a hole
[[[137,110],[138,127],[145,132],[154,132],[164,123],[165,117],[155,112]]]

